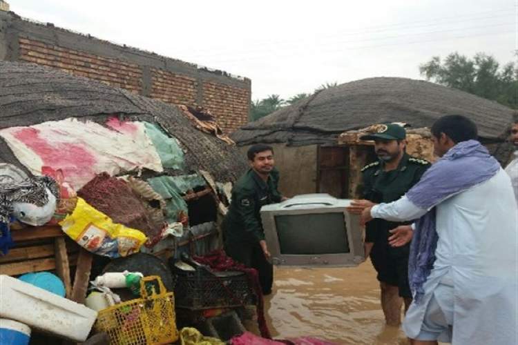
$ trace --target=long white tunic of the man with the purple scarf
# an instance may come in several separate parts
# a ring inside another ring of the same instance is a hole
[[[403,221],[426,211],[402,197],[374,206],[371,215]],[[407,336],[421,331],[434,289],[448,274],[454,286],[452,344],[518,344],[518,208],[506,172],[437,204],[436,228],[437,259],[422,301],[407,313]]]

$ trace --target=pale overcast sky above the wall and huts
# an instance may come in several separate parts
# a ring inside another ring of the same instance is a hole
[[[6,0],[12,11],[250,78],[252,99],[323,83],[422,79],[457,51],[515,61],[518,0]]]

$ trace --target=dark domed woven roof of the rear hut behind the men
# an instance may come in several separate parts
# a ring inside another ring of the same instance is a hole
[[[376,77],[316,92],[243,126],[231,135],[238,145],[336,144],[340,132],[372,124],[405,122],[430,127],[443,115],[470,117],[482,141],[501,141],[513,110],[460,90],[428,81]]]

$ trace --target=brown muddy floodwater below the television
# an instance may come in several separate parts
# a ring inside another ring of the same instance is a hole
[[[407,344],[385,326],[370,261],[353,268],[278,268],[265,301],[274,338],[311,336],[336,344]]]

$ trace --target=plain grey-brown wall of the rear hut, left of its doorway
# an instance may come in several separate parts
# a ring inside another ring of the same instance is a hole
[[[316,145],[285,146],[270,144],[274,148],[275,166],[280,172],[279,191],[282,195],[316,193]],[[244,157],[250,146],[242,146]]]

